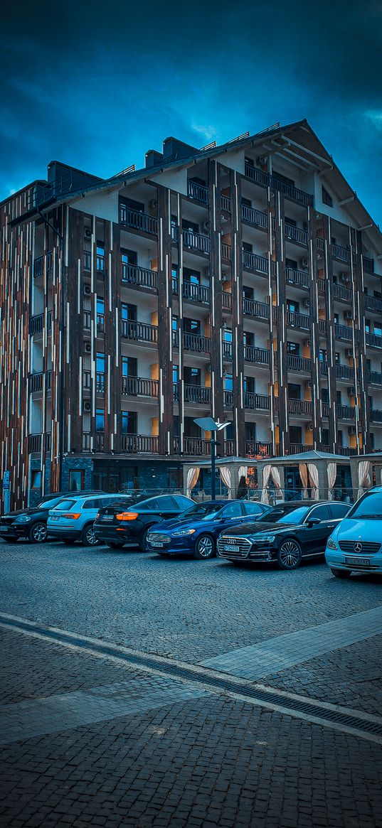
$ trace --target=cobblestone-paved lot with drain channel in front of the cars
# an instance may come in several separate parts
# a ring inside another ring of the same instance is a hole
[[[381,580],[0,555],[5,825],[382,824]]]

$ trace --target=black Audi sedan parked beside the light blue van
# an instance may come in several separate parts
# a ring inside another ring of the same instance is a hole
[[[296,569],[302,558],[324,555],[326,538],[348,511],[346,503],[331,500],[280,503],[257,522],[222,532],[219,556],[240,563],[274,561],[280,569]]]

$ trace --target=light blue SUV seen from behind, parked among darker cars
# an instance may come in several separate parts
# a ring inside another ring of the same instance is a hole
[[[118,503],[117,510],[125,508],[132,498],[123,494],[97,494],[84,497],[71,493],[49,512],[47,529],[51,537],[64,543],[80,541],[83,546],[95,546],[94,520],[99,509],[109,503]]]

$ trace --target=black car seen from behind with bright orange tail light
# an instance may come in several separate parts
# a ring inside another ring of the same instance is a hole
[[[154,523],[177,517],[185,509],[195,506],[191,498],[182,494],[161,494],[147,498],[144,495],[131,498],[126,508],[118,504],[99,509],[94,522],[94,535],[99,542],[112,549],[139,546],[146,549],[147,532]]]

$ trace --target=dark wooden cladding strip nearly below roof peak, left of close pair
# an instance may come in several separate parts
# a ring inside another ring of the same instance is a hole
[[[313,448],[320,450],[322,446],[322,416],[320,407],[320,323],[317,291],[317,218],[311,209],[308,212],[308,262]]]

